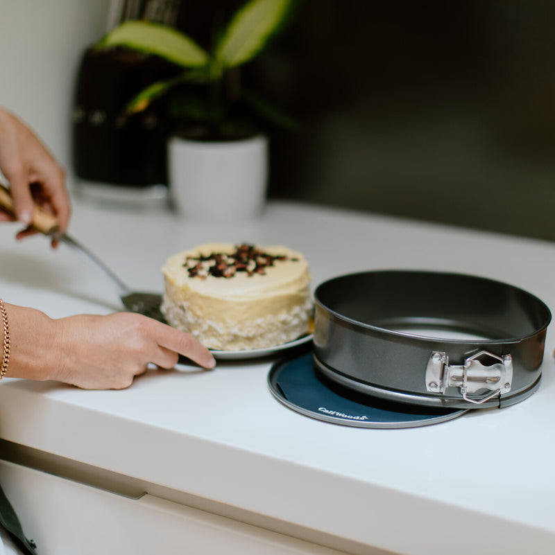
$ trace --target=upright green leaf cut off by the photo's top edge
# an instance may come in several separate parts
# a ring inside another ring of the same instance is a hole
[[[250,0],[230,21],[216,46],[222,67],[236,67],[252,60],[282,26],[292,0]]]

